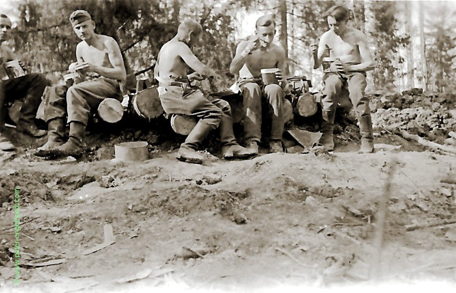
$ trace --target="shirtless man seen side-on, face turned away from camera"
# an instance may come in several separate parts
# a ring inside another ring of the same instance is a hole
[[[201,25],[191,19],[183,21],[176,36],[160,49],[154,75],[160,82],[159,94],[163,109],[168,114],[185,114],[199,118],[195,128],[181,144],[176,158],[192,163],[203,163],[204,156],[198,153],[204,138],[217,127],[220,128],[220,141],[224,158],[246,158],[252,152],[241,147],[233,134],[233,121],[230,105],[220,99],[205,96],[191,87],[192,79],[217,77],[192,53],[200,34]],[[188,67],[195,70],[187,75]]]

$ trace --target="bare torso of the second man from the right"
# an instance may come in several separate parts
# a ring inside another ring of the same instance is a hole
[[[246,46],[246,44],[243,44],[244,42],[239,44],[239,46],[244,48]],[[261,69],[279,68],[279,64],[284,61],[284,57],[284,50],[276,44],[253,49],[250,54],[245,57],[245,64],[241,70],[239,70],[239,77],[260,77]]]

